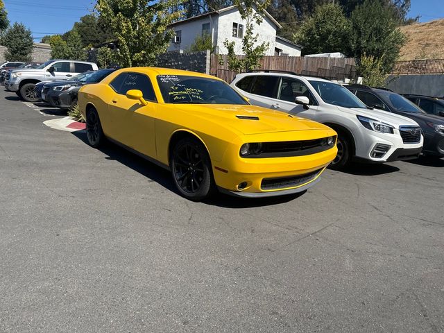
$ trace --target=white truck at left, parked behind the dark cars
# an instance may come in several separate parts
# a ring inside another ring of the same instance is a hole
[[[72,78],[85,71],[97,70],[94,62],[77,60],[49,60],[35,69],[16,69],[11,72],[7,88],[28,102],[38,101],[35,84]]]

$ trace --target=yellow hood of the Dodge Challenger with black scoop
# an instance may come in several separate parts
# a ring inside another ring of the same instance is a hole
[[[230,126],[244,135],[327,129],[327,126],[316,121],[254,105],[175,104],[173,108],[189,114],[190,117]]]

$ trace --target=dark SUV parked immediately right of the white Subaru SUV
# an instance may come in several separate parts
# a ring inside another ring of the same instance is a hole
[[[385,111],[384,114],[400,114],[416,121],[424,135],[422,153],[444,157],[444,119],[425,111],[403,96],[384,89],[374,89],[365,85],[346,86],[351,92],[370,107]],[[376,109],[375,109],[376,110]],[[380,113],[383,113],[383,112]]]

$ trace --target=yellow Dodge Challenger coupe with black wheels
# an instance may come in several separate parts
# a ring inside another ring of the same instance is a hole
[[[153,67],[119,69],[85,85],[87,139],[109,139],[169,169],[182,196],[293,194],[336,156],[336,133],[308,119],[250,105],[219,78]]]

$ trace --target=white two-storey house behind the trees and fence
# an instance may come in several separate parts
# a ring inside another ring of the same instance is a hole
[[[273,17],[264,13],[264,20],[259,26],[255,24],[254,33],[258,33],[258,44],[269,42],[266,56],[300,56],[302,46],[276,35],[278,28],[282,26]],[[191,46],[198,35],[209,34],[212,44],[216,46],[216,53],[227,54],[228,50],[223,45],[225,40],[234,41],[234,52],[242,54],[242,37],[246,21],[241,19],[236,6],[230,6],[203,15],[190,17],[170,25],[176,31],[168,51],[185,51]]]

